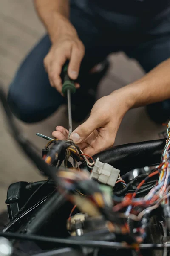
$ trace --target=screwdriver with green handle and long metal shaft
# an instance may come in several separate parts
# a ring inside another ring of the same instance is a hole
[[[74,81],[70,79],[68,76],[68,65],[64,66],[63,69],[64,73],[64,79],[63,79],[63,85],[62,85],[62,93],[65,95],[67,93],[67,102],[68,102],[68,138],[70,138],[70,135],[72,133],[72,117],[71,117],[71,93],[76,92],[76,87],[74,84]]]

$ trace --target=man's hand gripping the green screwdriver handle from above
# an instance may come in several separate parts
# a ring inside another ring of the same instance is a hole
[[[58,23],[59,26],[53,37],[51,49],[44,59],[44,66],[51,86],[61,93],[62,79],[60,74],[63,65],[69,60],[68,76],[73,80],[77,79],[81,61],[85,55],[85,47],[69,20],[59,19]],[[79,84],[76,84],[76,87],[78,88]]]

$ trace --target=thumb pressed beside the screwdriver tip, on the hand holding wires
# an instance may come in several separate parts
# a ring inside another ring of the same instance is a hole
[[[78,144],[85,140],[94,130],[99,128],[99,121],[91,116],[88,118],[86,122],[80,125],[76,130],[73,131],[70,138],[74,141],[74,143]]]

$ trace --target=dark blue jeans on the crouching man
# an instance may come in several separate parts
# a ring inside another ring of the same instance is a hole
[[[104,17],[93,8],[73,4],[71,22],[86,49],[80,84],[91,67],[112,52],[125,52],[139,61],[146,72],[170,57],[170,14],[158,20],[113,12]],[[45,35],[20,65],[11,83],[8,102],[13,113],[24,122],[45,119],[64,102],[50,86],[44,70],[43,59],[50,47]]]

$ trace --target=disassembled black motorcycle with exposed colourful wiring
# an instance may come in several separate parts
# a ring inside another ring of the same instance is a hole
[[[17,128],[2,90],[0,99],[14,139],[47,177],[9,186],[4,255],[169,254],[170,122],[167,138],[93,158],[72,140],[47,138],[40,156]]]

